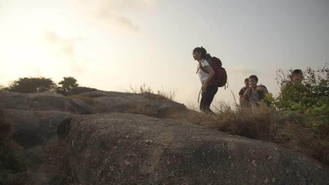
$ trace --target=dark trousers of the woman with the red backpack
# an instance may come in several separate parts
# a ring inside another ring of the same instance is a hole
[[[205,91],[202,92],[202,98],[200,101],[200,110],[204,113],[215,114],[210,109],[210,105],[214,96],[216,95],[218,90],[217,86],[209,86]]]

